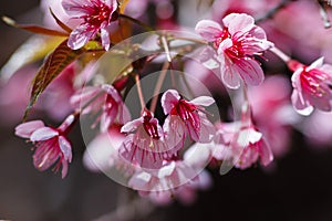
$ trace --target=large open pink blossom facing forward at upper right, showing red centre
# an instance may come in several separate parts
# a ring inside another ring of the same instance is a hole
[[[267,41],[266,32],[248,14],[228,14],[222,24],[224,28],[211,20],[196,24],[196,32],[217,51],[222,82],[230,88],[238,88],[240,78],[246,84],[259,85],[264,75],[255,55],[261,55],[273,44]]]

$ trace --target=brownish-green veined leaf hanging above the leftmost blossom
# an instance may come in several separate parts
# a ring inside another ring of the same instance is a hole
[[[33,77],[31,84],[31,95],[29,105],[25,108],[23,120],[27,119],[31,107],[35,104],[41,93],[61,72],[75,59],[86,52],[85,49],[72,50],[68,45],[68,40],[63,41],[45,60],[39,72]]]

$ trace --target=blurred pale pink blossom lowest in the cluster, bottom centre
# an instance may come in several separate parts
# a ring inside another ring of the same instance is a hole
[[[172,160],[153,172],[135,172],[128,186],[157,204],[168,204],[175,198],[190,204],[196,198],[196,191],[210,187],[210,181],[205,170],[197,172],[184,160]]]

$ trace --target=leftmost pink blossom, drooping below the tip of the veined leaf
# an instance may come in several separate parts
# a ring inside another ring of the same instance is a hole
[[[70,115],[58,128],[46,127],[41,120],[32,120],[20,124],[15,127],[15,135],[29,138],[35,146],[33,165],[44,171],[56,160],[55,171],[62,165],[62,178],[68,173],[69,162],[72,160],[72,147],[66,138],[73,122],[74,115]]]

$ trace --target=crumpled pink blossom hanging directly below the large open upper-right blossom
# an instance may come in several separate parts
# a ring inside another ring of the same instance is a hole
[[[242,114],[241,122],[217,123],[216,136],[210,144],[199,145],[204,159],[226,160],[237,168],[246,169],[258,160],[268,166],[273,160],[272,151],[263,135],[252,124],[248,113]]]

